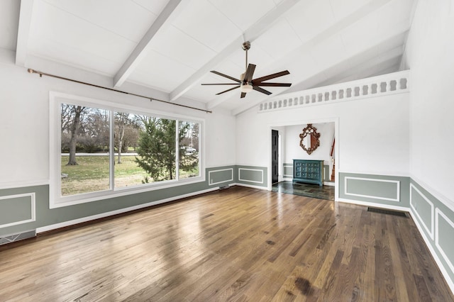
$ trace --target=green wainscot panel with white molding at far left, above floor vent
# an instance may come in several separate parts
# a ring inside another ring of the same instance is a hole
[[[0,197],[0,228],[35,220],[35,194]]]

